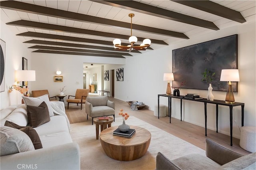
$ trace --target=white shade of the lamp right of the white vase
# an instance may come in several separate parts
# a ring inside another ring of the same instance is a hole
[[[222,69],[220,81],[240,81],[238,69]]]

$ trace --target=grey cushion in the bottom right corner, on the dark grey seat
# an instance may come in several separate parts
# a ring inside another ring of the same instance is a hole
[[[256,162],[256,152],[232,160],[218,169],[220,170],[242,170],[251,167]],[[255,169],[255,166],[254,166]]]

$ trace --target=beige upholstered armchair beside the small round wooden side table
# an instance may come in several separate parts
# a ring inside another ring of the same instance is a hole
[[[115,103],[108,100],[108,96],[87,97],[85,111],[87,120],[88,115],[92,117],[92,125],[94,117],[113,115],[115,121]]]

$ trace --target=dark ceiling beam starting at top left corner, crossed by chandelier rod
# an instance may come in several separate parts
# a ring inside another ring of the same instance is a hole
[[[76,12],[58,10],[58,9],[54,9],[54,8],[38,6],[38,5],[28,4],[28,3],[14,1],[14,0],[1,1],[0,7],[9,9],[9,10],[28,12],[28,13],[32,13],[32,14],[40,14],[40,15],[45,15],[45,16],[52,16],[52,17],[63,18],[63,19],[67,19],[67,20],[75,20],[75,21],[80,21],[80,22],[89,22],[89,23],[101,24],[101,25],[105,25],[105,26],[114,26],[117,28],[130,29],[130,23],[127,23],[127,22],[120,22],[120,21],[110,20],[110,19],[106,19],[106,18],[100,18],[100,17],[96,17],[96,16],[79,14]],[[132,29],[138,30],[141,32],[150,32],[153,34],[159,34],[159,35],[164,35],[164,36],[189,39],[188,36],[186,36],[185,34],[180,33],[180,32],[174,32],[174,31],[170,31],[170,30],[163,30],[163,29],[159,29],[159,28],[141,26],[141,25],[137,25],[137,24],[132,24]]]

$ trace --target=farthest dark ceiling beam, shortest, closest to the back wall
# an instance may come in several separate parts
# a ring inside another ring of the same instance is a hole
[[[38,49],[36,51],[32,51],[34,53],[51,53],[51,54],[68,54],[68,55],[83,55],[83,56],[94,56],[94,57],[114,57],[114,58],[125,58],[122,55],[108,55],[108,54],[96,54],[96,53],[78,53],[78,52],[70,52],[70,51],[52,51],[52,50],[43,50]]]

